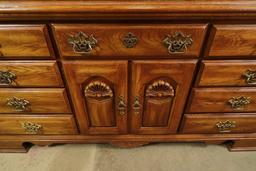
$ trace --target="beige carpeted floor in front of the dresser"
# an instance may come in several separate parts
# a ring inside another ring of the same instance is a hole
[[[0,154],[1,171],[255,171],[256,152],[229,152],[200,143],[153,144],[132,149],[77,144],[32,147]]]

